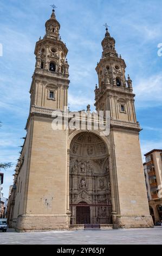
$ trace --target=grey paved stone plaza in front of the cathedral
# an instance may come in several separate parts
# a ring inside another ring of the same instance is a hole
[[[0,232],[1,245],[162,245],[162,227],[153,229]]]

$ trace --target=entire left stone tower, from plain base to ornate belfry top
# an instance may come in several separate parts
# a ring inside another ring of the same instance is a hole
[[[55,10],[36,42],[27,136],[17,171],[12,227],[20,231],[69,229],[67,130],[52,129],[52,113],[68,106],[68,49]],[[21,189],[19,189],[21,187]]]

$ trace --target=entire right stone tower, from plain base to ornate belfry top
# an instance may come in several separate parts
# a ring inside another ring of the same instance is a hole
[[[126,64],[115,50],[108,32],[102,40],[102,57],[96,67],[96,111],[110,111],[109,157],[113,163],[112,202],[114,227],[152,227],[148,209],[132,80],[126,79]]]

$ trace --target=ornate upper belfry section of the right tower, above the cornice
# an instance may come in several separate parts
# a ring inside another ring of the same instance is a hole
[[[115,50],[115,40],[106,28],[102,40],[102,58],[96,67],[99,77],[99,88],[95,88],[95,106],[97,111],[110,111],[112,121],[134,123],[137,120],[134,109],[132,80],[126,80],[124,59]]]

